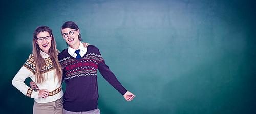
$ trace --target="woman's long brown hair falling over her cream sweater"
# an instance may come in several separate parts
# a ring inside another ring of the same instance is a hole
[[[52,60],[53,63],[53,67],[55,68],[55,76],[54,76],[54,80],[56,79],[56,77],[59,80],[59,83],[62,82],[62,67],[58,61],[58,52],[56,49],[56,42],[54,39],[54,36],[52,34],[52,29],[50,29],[47,26],[38,26],[33,34],[33,51],[32,54],[34,56],[34,61],[35,61],[35,66],[36,66],[36,70],[35,70],[35,83],[36,84],[42,84],[44,83],[47,79],[44,78],[44,76],[42,75],[42,67],[45,65],[45,60],[42,58],[41,53],[40,53],[40,47],[39,45],[36,43],[36,39],[37,39],[37,35],[40,32],[48,32],[50,34],[50,36],[52,36],[52,40],[51,40],[51,47],[49,49],[49,56]]]

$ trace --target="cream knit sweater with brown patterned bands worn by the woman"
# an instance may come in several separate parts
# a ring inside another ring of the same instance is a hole
[[[25,79],[28,77],[36,82],[36,66],[33,54],[30,54],[29,59],[23,64],[22,68],[15,75],[12,80],[12,85],[20,90],[20,92],[22,92],[27,97],[34,98],[37,103],[48,103],[60,99],[63,96],[63,91],[61,89],[61,84],[59,83],[58,78],[54,79],[55,68],[51,58],[45,52],[40,52],[41,56],[45,60],[45,65],[42,67],[42,75],[45,77],[45,79],[47,79],[47,81],[42,84],[37,84],[37,86],[39,89],[47,89],[49,92],[49,96],[46,98],[38,98],[39,91],[35,92],[32,88],[24,83]]]

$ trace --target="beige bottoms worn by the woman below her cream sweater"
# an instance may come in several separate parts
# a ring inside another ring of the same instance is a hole
[[[63,114],[63,97],[49,103],[37,103],[34,102],[33,107],[34,114]]]

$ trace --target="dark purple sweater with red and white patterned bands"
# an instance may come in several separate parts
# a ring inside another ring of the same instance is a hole
[[[79,59],[72,57],[68,49],[64,49],[58,59],[67,84],[63,96],[65,110],[77,112],[98,108],[97,69],[122,95],[127,91],[105,64],[99,49],[93,45],[89,45],[86,54]]]

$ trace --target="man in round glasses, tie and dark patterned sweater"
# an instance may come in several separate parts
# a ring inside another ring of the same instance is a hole
[[[63,70],[63,79],[67,84],[63,96],[63,113],[100,112],[98,109],[97,69],[127,101],[131,101],[135,97],[121,85],[110,71],[98,48],[93,45],[89,45],[87,48],[83,47],[80,42],[82,40],[80,30],[74,22],[65,22],[61,27],[61,34],[69,45],[58,56]]]

